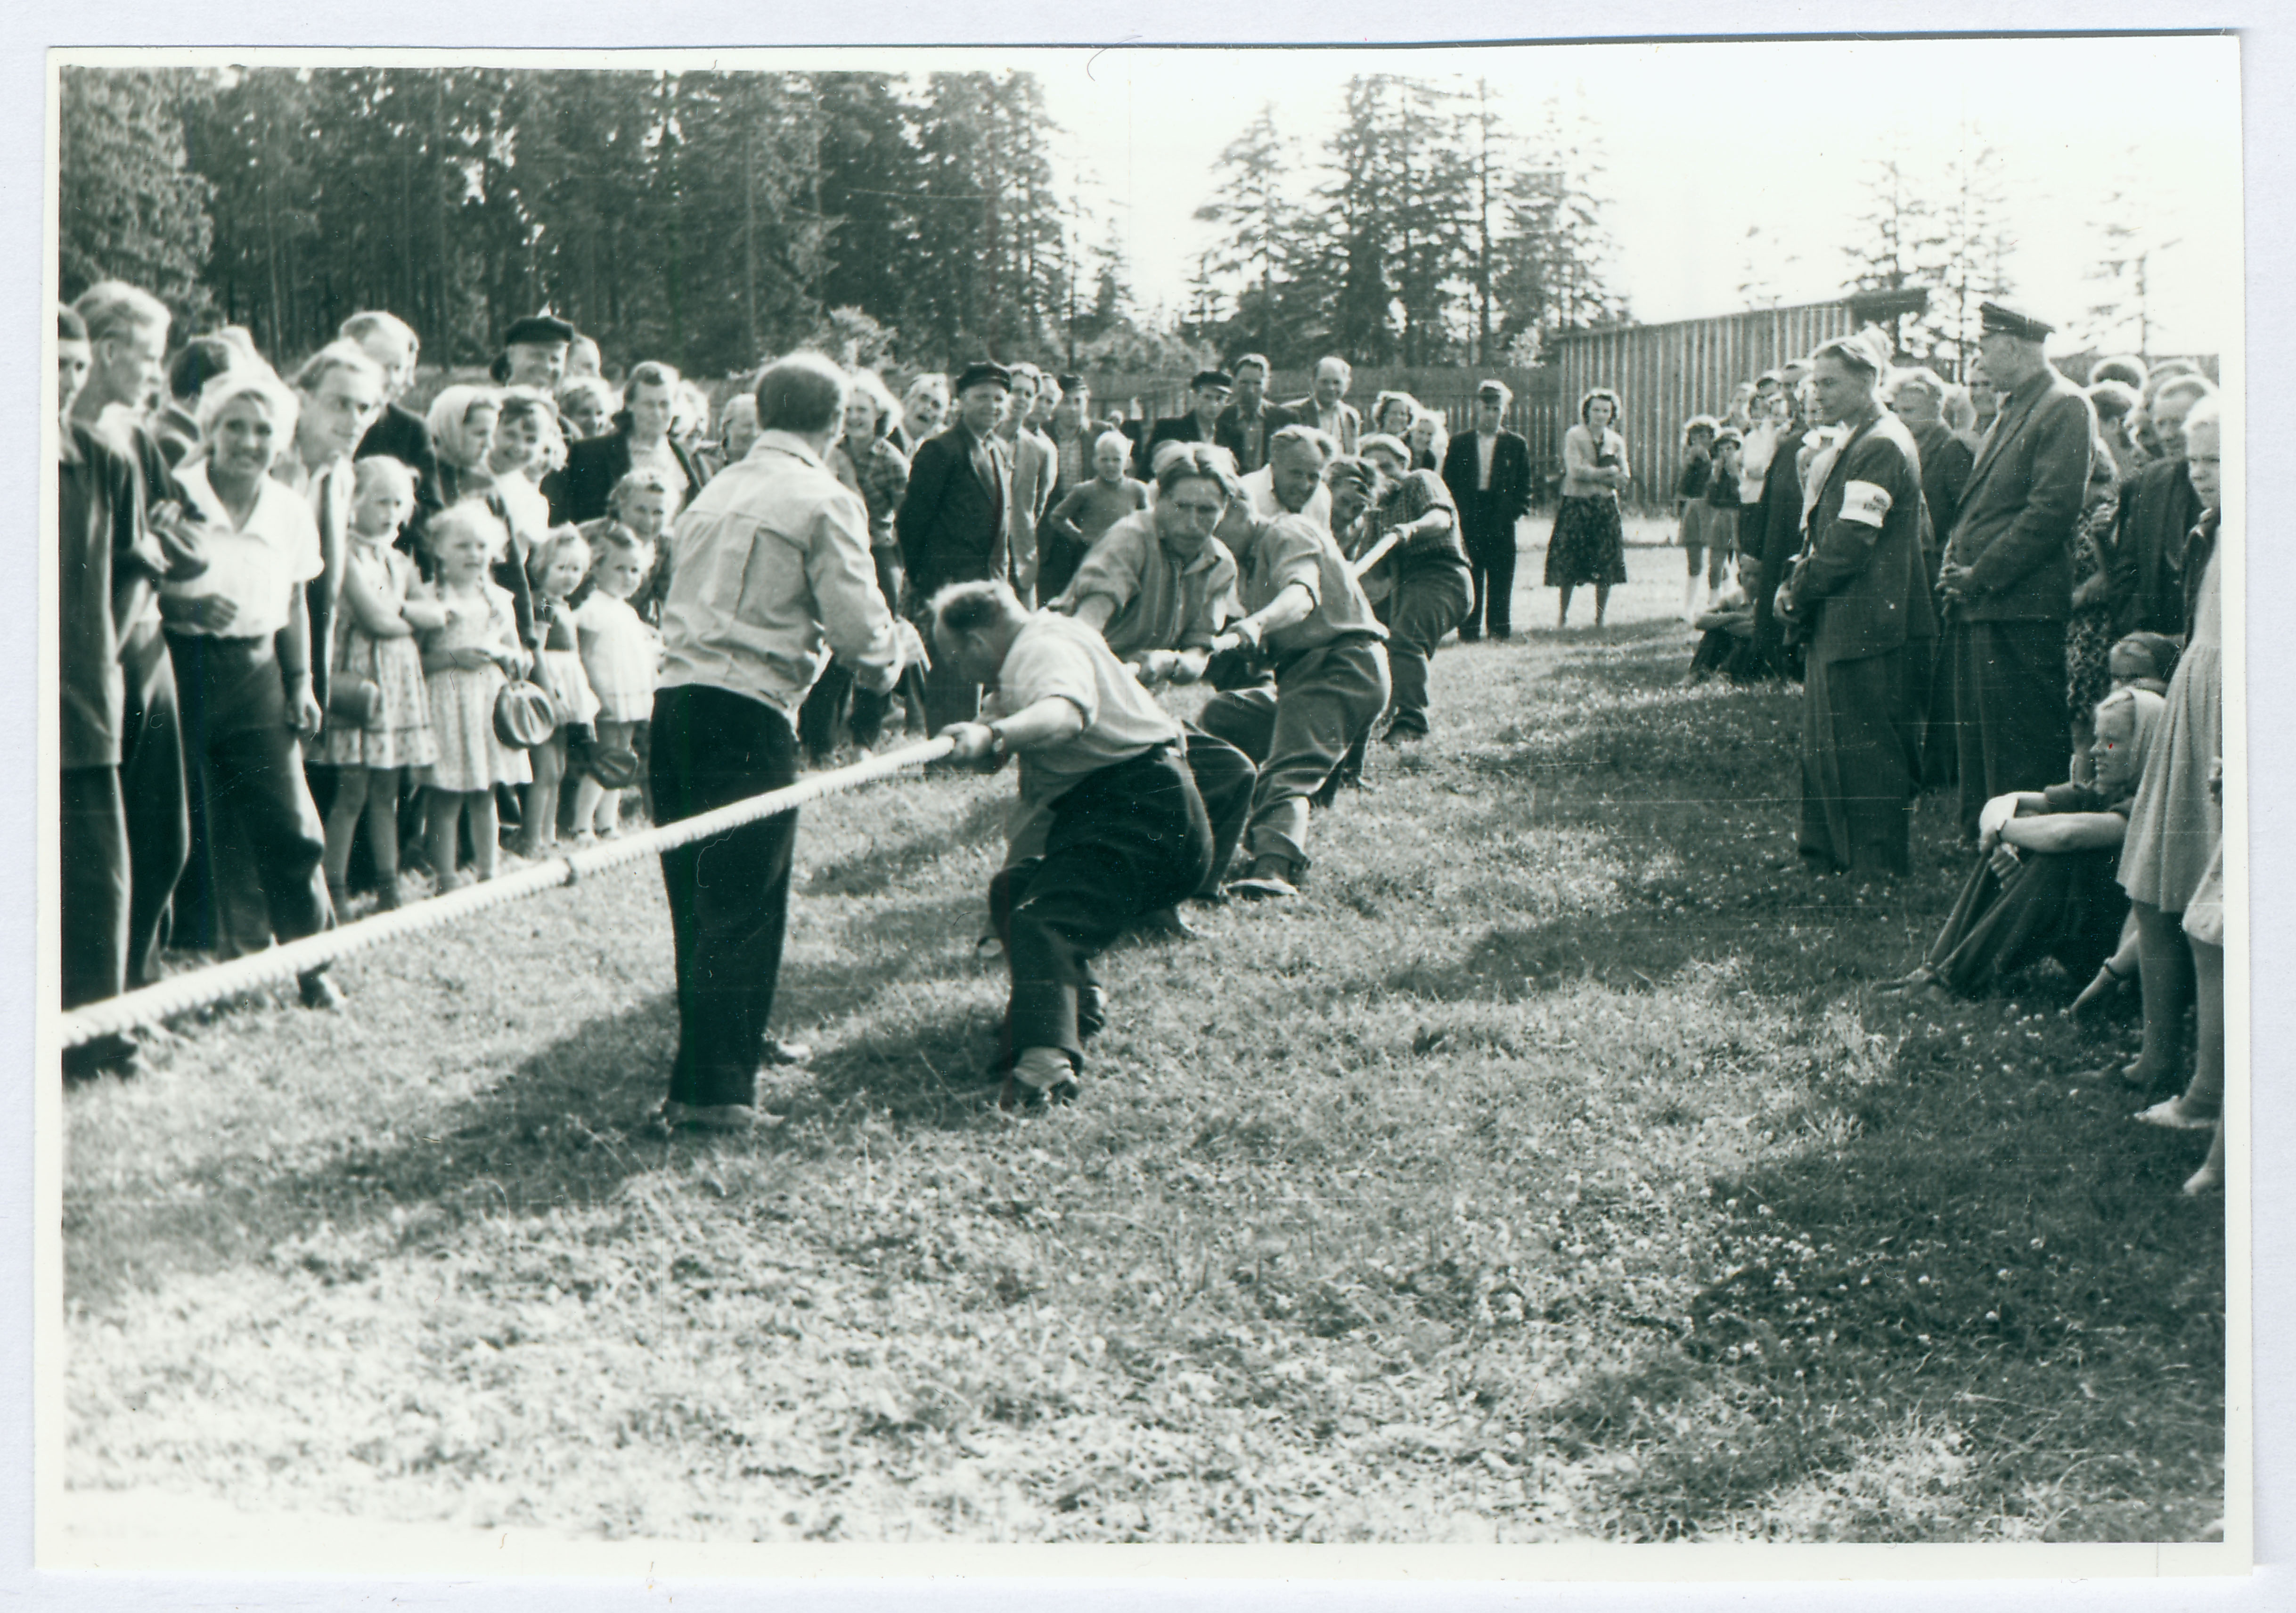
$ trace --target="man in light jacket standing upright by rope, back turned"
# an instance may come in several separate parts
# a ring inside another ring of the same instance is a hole
[[[831,655],[872,694],[900,678],[868,510],[822,464],[845,427],[845,372],[815,354],[767,365],[755,448],[677,522],[654,685],[659,823],[794,784],[797,708]],[[806,1057],[765,1034],[794,843],[788,811],[661,852],[677,944],[677,1059],[661,1110],[673,1130],[755,1126],[758,1066]]]

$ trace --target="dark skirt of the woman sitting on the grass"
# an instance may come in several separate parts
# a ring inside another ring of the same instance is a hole
[[[2112,880],[2117,850],[2023,852],[2000,880],[1979,857],[1945,931],[1929,949],[1938,981],[1975,997],[1993,981],[2055,958],[2087,983],[2122,940],[2128,896]]]

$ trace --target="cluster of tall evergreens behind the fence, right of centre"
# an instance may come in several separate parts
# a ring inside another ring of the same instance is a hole
[[[1628,317],[1600,136],[1561,94],[1513,126],[1483,80],[1364,74],[1313,161],[1263,106],[1215,179],[1182,331],[1226,352],[1534,365],[1554,333]]]

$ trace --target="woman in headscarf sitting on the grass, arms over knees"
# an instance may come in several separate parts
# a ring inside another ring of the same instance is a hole
[[[1899,990],[1933,986],[1975,997],[2041,958],[2076,981],[2112,967],[2128,914],[2115,871],[2128,804],[2161,733],[2167,701],[2115,689],[2096,705],[2092,784],[1995,795],[1977,820],[1977,866],[1922,967]]]

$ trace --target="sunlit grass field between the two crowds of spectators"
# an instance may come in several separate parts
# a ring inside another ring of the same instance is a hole
[[[1525,556],[1536,579],[1538,554]],[[67,1482],[687,1539],[2206,1539],[2223,1204],[1952,901],[1793,855],[1798,699],[1685,689],[1681,561],[1525,588],[1288,908],[1107,960],[1013,1119],[1008,779],[806,809],[755,1140],[661,1142],[647,871],[181,1025],[67,1094]],[[1584,607],[1582,607],[1584,609]],[[163,1505],[161,1505],[163,1510]]]

